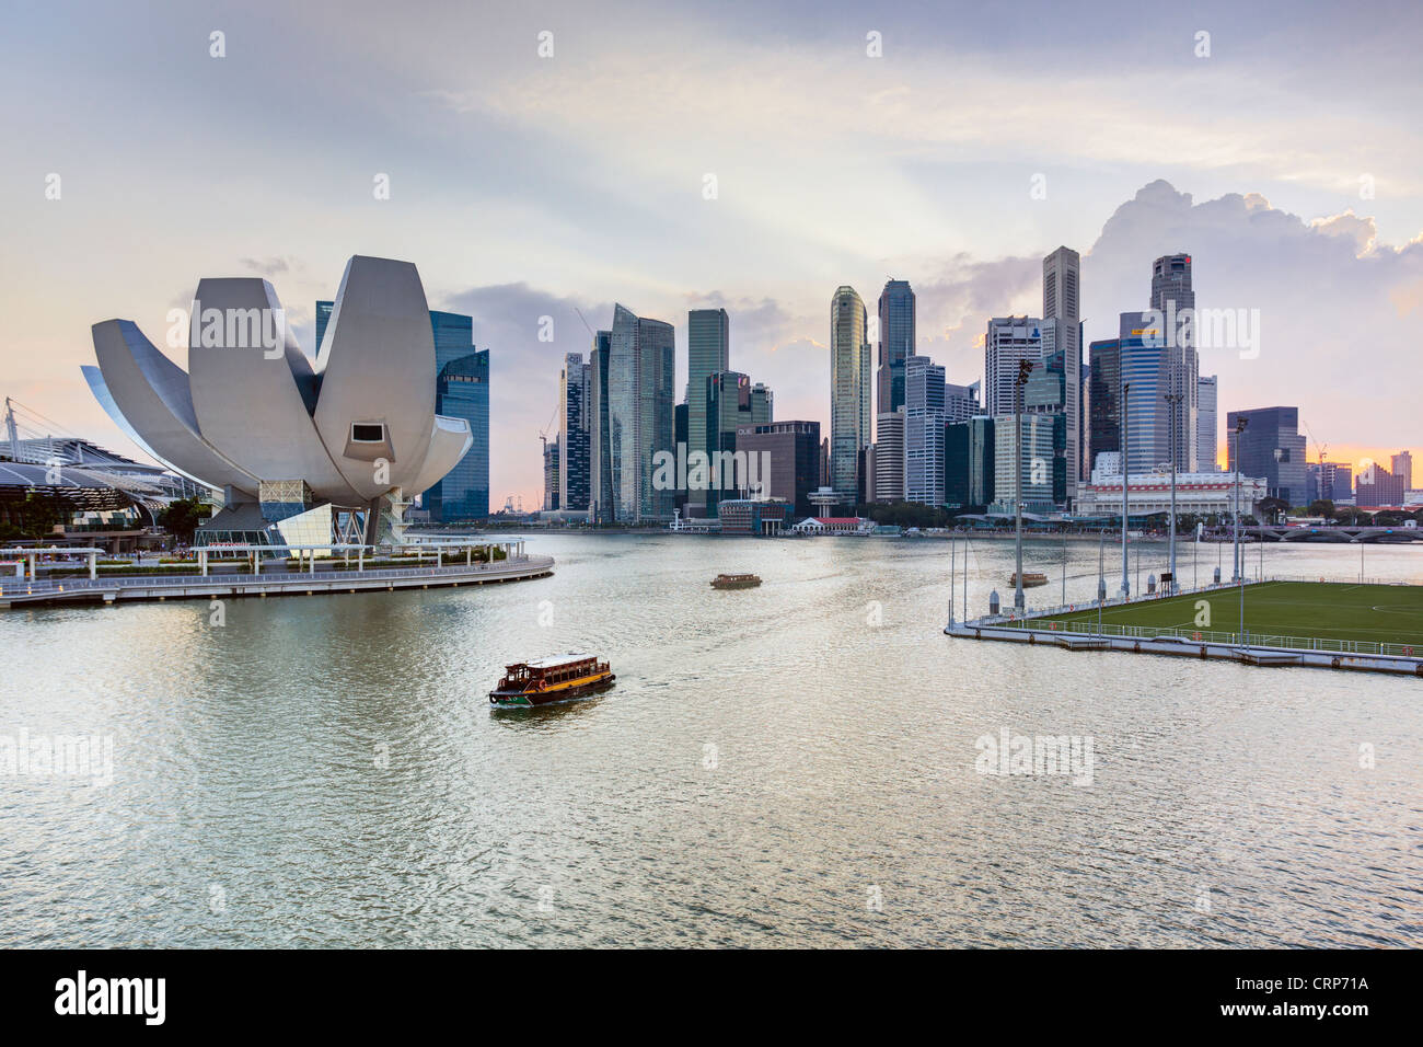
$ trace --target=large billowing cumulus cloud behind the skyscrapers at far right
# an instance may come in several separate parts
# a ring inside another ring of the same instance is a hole
[[[1259,194],[1195,202],[1165,181],[1116,209],[1083,258],[1083,315],[1091,338],[1116,335],[1116,315],[1148,305],[1151,262],[1192,258],[1197,309],[1258,311],[1261,353],[1204,352],[1221,375],[1220,416],[1294,405],[1319,440],[1416,440],[1419,353],[1409,313],[1423,303],[1423,242],[1390,246],[1352,209],[1303,219]]]

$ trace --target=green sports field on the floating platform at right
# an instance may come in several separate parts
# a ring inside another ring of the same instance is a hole
[[[1144,600],[1124,607],[1104,607],[1104,625],[1136,625],[1195,631],[1238,632],[1239,590]],[[1200,604],[1205,605],[1201,607]],[[1079,623],[1091,631],[1096,608],[1033,618],[1035,628],[1052,621]],[[1245,631],[1251,635],[1302,637],[1336,641],[1405,644],[1423,652],[1423,585],[1353,585],[1346,583],[1262,581],[1245,587]],[[1202,637],[1214,638],[1214,637]]]

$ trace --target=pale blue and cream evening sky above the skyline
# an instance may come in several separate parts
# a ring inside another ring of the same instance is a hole
[[[1198,308],[1258,318],[1258,352],[1202,352],[1222,426],[1295,405],[1311,460],[1419,452],[1423,6],[1153,7],[13,6],[0,395],[142,457],[90,325],[162,345],[202,276],[263,275],[312,352],[346,259],[400,258],[491,350],[491,506],[536,507],[579,312],[673,323],[680,393],[687,311],[723,305],[731,366],[828,432],[837,286],[874,313],[908,279],[963,385],[1064,244],[1089,340],[1175,251]]]

